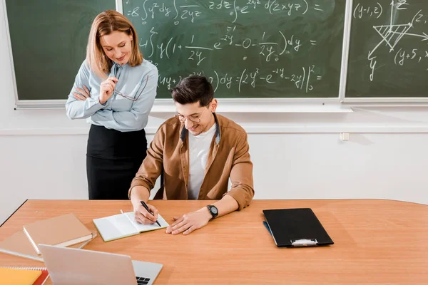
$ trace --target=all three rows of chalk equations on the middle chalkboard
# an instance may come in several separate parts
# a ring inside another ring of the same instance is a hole
[[[322,44],[319,44],[321,38],[317,38],[319,35],[308,33],[307,29],[300,34],[290,28],[292,20],[277,27],[269,21],[264,22],[265,26],[258,25],[256,28],[248,28],[245,23],[257,24],[253,19],[255,14],[257,19],[277,15],[280,19],[297,17],[299,23],[302,18],[315,23],[317,19],[325,21],[325,16],[330,15],[331,7],[334,6],[333,0],[141,0],[137,1],[137,4],[129,2],[124,1],[124,14],[131,19],[137,29],[143,28],[142,32],[138,33],[140,36],[138,45],[143,51],[144,58],[158,66],[159,87],[173,88],[184,76],[198,73],[207,76],[215,90],[236,89],[241,93],[248,90],[247,88],[258,88],[262,84],[263,86],[288,84],[301,92],[310,93],[316,88],[315,83],[322,81],[325,76],[324,73],[317,74],[314,62],[308,60],[306,56],[308,53],[315,54],[317,48],[322,48]],[[253,18],[250,17],[252,14]],[[206,23],[221,24],[214,24],[213,32],[204,29],[203,33],[199,33],[198,27]],[[168,33],[163,32],[165,25],[168,26]],[[173,32],[183,29],[189,32]],[[208,39],[207,33],[210,35]],[[252,61],[258,61],[260,65],[258,68],[240,68],[238,72],[241,73],[234,71],[231,74],[230,71],[213,66],[213,62],[215,64],[220,62],[225,55],[233,55],[232,61],[235,66],[240,66],[240,63],[243,63],[242,66],[252,66]],[[297,63],[297,66],[290,64],[295,58],[303,59],[304,62]],[[176,73],[162,74],[164,64],[170,65],[177,61],[181,65],[178,66]],[[186,68],[189,70],[186,71]]]

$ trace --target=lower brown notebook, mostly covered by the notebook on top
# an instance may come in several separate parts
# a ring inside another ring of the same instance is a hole
[[[96,232],[93,232],[93,239],[97,236]],[[73,244],[69,247],[73,247],[75,249],[81,249],[86,246],[93,239],[89,239],[86,242],[81,242],[79,244]],[[4,239],[0,242],[0,252],[5,254],[15,255],[16,257],[24,257],[28,259],[34,259],[37,261],[43,261],[43,258],[39,254],[37,254],[34,247],[31,245],[31,242],[26,237],[24,231],[16,232],[11,235],[7,239]]]

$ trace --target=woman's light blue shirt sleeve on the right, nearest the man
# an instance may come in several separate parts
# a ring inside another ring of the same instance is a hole
[[[138,100],[133,103],[131,110],[98,110],[98,112],[91,116],[91,120],[93,123],[98,123],[99,125],[114,130],[132,131],[145,128],[148,115],[155,103],[157,86],[158,69],[153,68],[148,74],[143,76],[143,82],[141,83],[138,93],[140,93],[141,90],[143,91],[138,97]]]

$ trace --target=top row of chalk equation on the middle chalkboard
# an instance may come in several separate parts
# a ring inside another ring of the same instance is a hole
[[[212,11],[226,11],[230,16],[232,23],[238,21],[240,16],[250,14],[253,11],[264,9],[270,15],[281,14],[283,16],[305,15],[310,9],[315,11],[324,11],[320,4],[308,4],[307,0],[280,1],[280,0],[216,0],[206,1],[204,6],[198,4],[178,4],[177,0],[152,2],[145,0],[139,6],[125,11],[128,17],[137,17],[141,19],[141,24],[146,25],[150,19],[165,17],[174,20],[174,25],[180,24],[180,21],[190,21],[195,23],[203,14],[210,14]],[[128,4],[129,0],[125,1]]]

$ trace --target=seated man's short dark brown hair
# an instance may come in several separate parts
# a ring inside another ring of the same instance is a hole
[[[171,90],[171,95],[181,105],[199,102],[201,107],[206,107],[214,98],[214,90],[205,76],[188,76]]]

